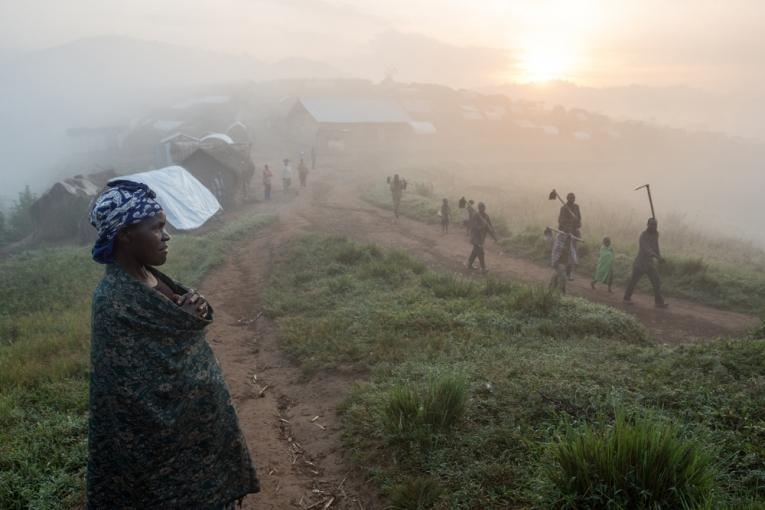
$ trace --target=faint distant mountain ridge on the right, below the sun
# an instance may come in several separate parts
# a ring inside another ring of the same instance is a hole
[[[482,90],[505,94],[512,99],[584,108],[617,118],[763,138],[765,102],[752,96],[721,94],[693,87],[584,87],[565,81],[511,83]]]

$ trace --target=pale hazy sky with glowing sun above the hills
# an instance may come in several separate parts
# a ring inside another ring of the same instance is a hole
[[[499,52],[497,81],[759,92],[765,80],[763,0],[0,0],[4,52],[126,35],[340,65],[391,30]]]

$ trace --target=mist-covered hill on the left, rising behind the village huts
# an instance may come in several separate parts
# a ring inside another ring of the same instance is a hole
[[[148,108],[171,104],[212,83],[339,75],[308,59],[266,63],[248,55],[128,37],[80,39],[6,55],[0,74],[0,140],[4,165],[19,171],[7,172],[3,188],[40,188],[58,177],[69,128],[125,125]]]

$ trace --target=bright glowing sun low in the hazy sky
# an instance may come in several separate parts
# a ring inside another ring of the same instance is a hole
[[[576,66],[576,51],[562,41],[533,41],[524,44],[520,57],[521,80],[545,82],[570,77]]]

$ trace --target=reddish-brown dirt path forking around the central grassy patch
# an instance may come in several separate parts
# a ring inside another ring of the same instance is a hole
[[[245,500],[245,508],[282,510],[379,509],[372,485],[354,471],[341,449],[337,405],[364,374],[338,369],[306,379],[282,354],[273,325],[261,315],[261,290],[280,248],[303,233],[344,235],[359,241],[412,253],[429,266],[466,272],[470,246],[461,230],[447,236],[439,227],[395,220],[392,213],[358,197],[348,174],[321,169],[308,190],[279,197],[242,214],[276,212],[279,221],[243,240],[228,261],[200,286],[215,305],[217,318],[209,339],[221,362],[239,419],[258,466],[263,492]],[[317,180],[320,178],[320,180]],[[550,270],[513,259],[489,246],[491,274],[546,283]],[[593,292],[587,278],[570,293],[621,307],[620,293]],[[647,296],[635,296],[634,314],[658,342],[690,343],[736,334],[756,324],[753,317],[673,300],[669,310],[655,310]]]

